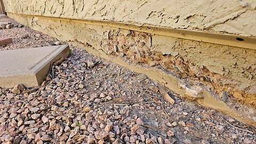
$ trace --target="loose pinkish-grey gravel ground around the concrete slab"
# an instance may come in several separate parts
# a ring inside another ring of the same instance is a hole
[[[0,22],[17,25],[4,17]],[[13,38],[1,51],[58,41],[28,27],[0,29],[1,37]],[[145,75],[71,49],[38,90],[0,88],[2,143],[256,142],[252,127],[182,99]],[[166,92],[174,105],[163,99]]]

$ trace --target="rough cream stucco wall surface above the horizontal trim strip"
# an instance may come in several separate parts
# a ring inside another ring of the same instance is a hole
[[[4,0],[7,12],[256,36],[255,0]]]

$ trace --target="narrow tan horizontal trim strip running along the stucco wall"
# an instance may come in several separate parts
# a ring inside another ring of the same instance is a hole
[[[233,34],[213,33],[213,32],[207,32],[207,31],[199,31],[199,30],[173,29],[173,28],[157,27],[157,26],[151,26],[151,25],[137,26],[134,24],[126,24],[122,22],[113,22],[113,21],[105,21],[105,20],[101,21],[101,20],[87,20],[87,19],[55,18],[55,17],[45,17],[42,15],[29,15],[29,14],[19,14],[19,13],[12,13],[12,12],[7,12],[7,13],[22,15],[26,17],[40,17],[40,18],[47,18],[47,19],[85,23],[87,25],[109,26],[109,27],[115,27],[115,28],[141,31],[145,33],[155,34],[155,35],[177,37],[177,38],[189,39],[189,40],[199,41],[199,42],[221,44],[221,45],[228,45],[228,46],[235,46],[235,47],[242,47],[245,49],[256,50],[255,37],[245,37],[245,36],[238,36]]]

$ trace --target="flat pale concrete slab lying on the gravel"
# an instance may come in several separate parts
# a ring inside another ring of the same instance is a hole
[[[68,55],[68,45],[0,51],[0,87],[38,86],[49,73],[51,63]]]

